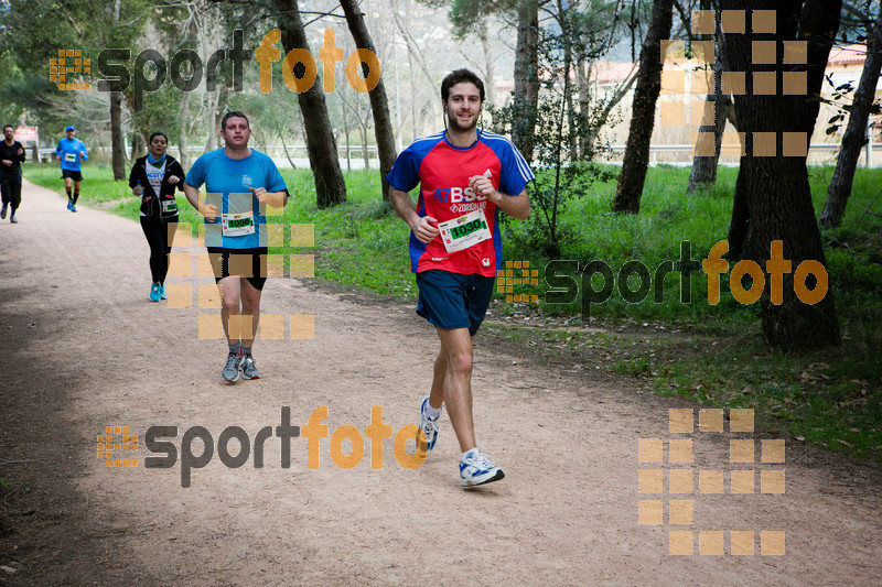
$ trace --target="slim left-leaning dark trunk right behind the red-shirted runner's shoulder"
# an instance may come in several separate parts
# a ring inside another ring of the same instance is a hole
[[[365,25],[364,14],[355,0],[341,0],[340,6],[343,7],[343,13],[346,14],[346,24],[349,26],[349,32],[355,41],[355,46],[358,48],[366,48],[377,54],[374,43],[370,40],[370,34],[367,32]],[[366,63],[362,63],[362,70],[365,77],[369,73],[369,67]],[[392,120],[389,116],[389,100],[386,97],[386,86],[383,84],[383,77],[379,78],[377,85],[368,93],[370,97],[370,110],[374,113],[374,134],[377,140],[377,156],[379,159],[379,174],[383,182],[383,199],[389,200],[389,181],[386,175],[392,171],[395,157],[398,153],[395,150],[395,131],[392,130]]]

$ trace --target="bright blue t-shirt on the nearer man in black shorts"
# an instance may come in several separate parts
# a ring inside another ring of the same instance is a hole
[[[223,149],[205,153],[193,163],[186,174],[187,184],[200,188],[205,184],[205,203],[217,206],[214,222],[205,221],[205,244],[225,249],[254,249],[267,246],[266,204],[248,189],[262,187],[267,192],[281,192],[284,184],[272,160],[251,149],[245,159],[229,159]],[[251,215],[254,232],[241,236],[224,233],[222,215]]]

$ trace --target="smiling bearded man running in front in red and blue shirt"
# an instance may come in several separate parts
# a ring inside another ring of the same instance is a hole
[[[518,219],[530,211],[527,162],[505,138],[477,128],[484,84],[467,69],[441,83],[448,130],[413,141],[388,175],[395,211],[408,224],[417,313],[438,330],[441,350],[431,393],[420,405],[418,450],[428,456],[441,406],[460,442],[460,483],[498,481],[505,474],[477,449],[472,420],[472,337],[477,333],[502,267],[499,210]],[[415,209],[408,192],[420,186]]]

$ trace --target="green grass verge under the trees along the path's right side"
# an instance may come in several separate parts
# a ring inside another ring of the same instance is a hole
[[[727,238],[736,173],[720,167],[716,186],[687,198],[688,169],[650,169],[636,216],[610,214],[614,181],[594,184],[561,219],[577,235],[566,244],[563,258],[580,264],[602,260],[614,272],[638,259],[653,273],[663,260],[677,260],[680,243],[689,241],[691,258],[701,260],[713,243]],[[24,174],[62,192],[54,166],[25,166]],[[811,167],[809,174],[819,213],[832,167]],[[407,252],[409,231],[381,204],[376,172],[345,173],[348,202],[325,210],[315,206],[309,171],[284,170],[282,175],[293,194],[282,221],[315,227],[314,248],[286,251],[313,252],[316,280],[399,300],[416,297]],[[107,166],[87,166],[84,176],[84,203],[137,218],[138,200],[125,182],[112,182]],[[578,301],[549,305],[495,300],[494,317],[515,319],[488,323],[486,329],[542,361],[569,361],[635,378],[658,393],[716,407],[754,407],[757,424],[765,431],[882,461],[882,237],[879,228],[859,221],[863,215],[859,206],[872,205],[882,213],[882,198],[872,204],[880,187],[882,170],[859,169],[842,227],[821,232],[829,295],[835,297],[843,338],[839,348],[789,355],[768,349],[762,343],[759,305],[739,304],[723,275],[720,304],[711,306],[707,278],[700,271],[691,276],[689,304],[679,301],[679,274],[669,273],[662,303],[653,301],[652,292],[638,304],[614,292],[605,303],[592,305],[592,326],[621,331],[587,333]],[[186,204],[181,209],[182,221],[197,224]],[[539,283],[545,284],[548,259],[516,246],[524,230],[523,222],[505,224],[504,257],[530,261],[531,268],[539,269]],[[785,257],[786,252],[785,243]],[[515,293],[541,296],[546,289],[519,286]],[[534,319],[526,323],[518,316]]]

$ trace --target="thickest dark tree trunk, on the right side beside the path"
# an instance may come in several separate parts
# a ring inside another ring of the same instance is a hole
[[[746,10],[747,14],[768,7],[765,0],[723,0],[721,4],[723,10]],[[811,278],[797,281],[794,272],[809,260],[826,265],[811,207],[806,156],[819,108],[815,97],[820,94],[824,69],[839,28],[841,0],[807,0],[802,4],[795,1],[777,6],[774,34],[749,32],[725,39],[727,64],[734,72],[745,72],[746,79],[746,94],[734,97],[739,128],[746,133],[747,144],[735,185],[733,225],[735,213],[750,221],[744,225],[747,228],[743,257],[759,263],[763,271],[760,297],[763,337],[768,345],[784,350],[839,344],[826,271],[821,283]],[[754,95],[754,73],[772,72],[779,85],[782,73],[794,69],[793,65],[781,65],[782,59],[777,59],[777,65],[753,63],[752,43],[772,40],[778,51],[783,41],[808,41],[807,66],[803,68],[807,72],[807,95]],[[773,241],[783,242],[783,259],[790,264],[789,270],[783,268],[786,271],[783,283],[775,283],[766,264]],[[759,287],[759,283],[753,286]],[[799,300],[795,287],[803,292],[824,287],[820,291],[826,294],[820,301],[806,303]],[[776,298],[776,294],[781,297]]]

